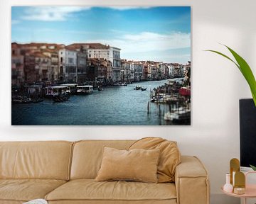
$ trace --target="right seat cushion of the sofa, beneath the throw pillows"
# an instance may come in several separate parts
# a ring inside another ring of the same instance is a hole
[[[46,196],[46,200],[176,200],[174,183],[134,181],[69,181]],[[104,202],[103,202],[104,203]]]

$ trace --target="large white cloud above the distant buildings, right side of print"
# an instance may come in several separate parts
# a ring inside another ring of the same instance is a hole
[[[120,33],[119,33],[120,34]],[[121,48],[121,55],[129,60],[156,60],[163,62],[186,63],[189,54],[179,52],[179,49],[191,47],[191,33],[149,33],[120,34],[110,40],[86,39],[81,42],[100,42]],[[170,52],[170,50],[175,50]]]

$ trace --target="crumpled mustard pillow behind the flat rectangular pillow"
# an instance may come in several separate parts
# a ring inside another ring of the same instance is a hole
[[[181,163],[181,154],[176,142],[160,137],[145,137],[134,142],[129,149],[160,149],[157,176],[159,183],[173,182],[175,180],[176,166]]]

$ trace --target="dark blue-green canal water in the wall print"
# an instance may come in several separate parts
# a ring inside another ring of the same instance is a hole
[[[87,96],[71,96],[62,103],[12,104],[12,125],[172,125],[164,120],[165,104],[149,103],[150,90],[163,81],[144,81],[128,86],[108,86]],[[146,91],[134,90],[144,86]],[[160,107],[159,107],[160,106]]]

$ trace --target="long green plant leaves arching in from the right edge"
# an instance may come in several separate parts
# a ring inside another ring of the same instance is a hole
[[[221,55],[221,56],[227,58],[228,60],[233,62],[238,67],[238,69],[240,70],[242,75],[245,77],[245,80],[247,81],[247,83],[250,86],[250,91],[252,93],[252,98],[253,98],[253,101],[254,101],[255,106],[256,106],[256,81],[255,81],[255,77],[253,76],[252,69],[250,69],[249,64],[247,64],[247,62],[242,57],[240,57],[240,55],[238,55],[238,53],[236,53],[230,47],[228,47],[226,45],[224,45],[224,46],[227,47],[228,50],[233,55],[233,57],[235,57],[236,62],[234,60],[232,60],[230,57],[228,57],[227,55],[224,55],[221,52],[218,52],[218,51],[215,51],[215,50],[206,50],[206,51],[215,52],[218,55]]]

